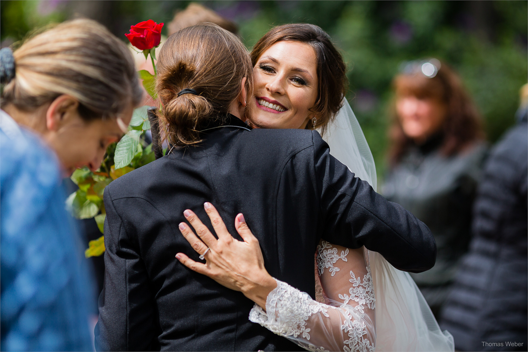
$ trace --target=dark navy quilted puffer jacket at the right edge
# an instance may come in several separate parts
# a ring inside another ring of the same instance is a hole
[[[524,121],[507,132],[486,163],[474,239],[442,313],[442,329],[451,332],[459,350],[527,348],[527,173]],[[513,342],[522,345],[506,344]]]

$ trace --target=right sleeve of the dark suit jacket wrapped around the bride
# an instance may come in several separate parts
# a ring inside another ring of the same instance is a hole
[[[313,140],[317,192],[325,219],[322,238],[346,248],[365,246],[403,271],[431,269],[436,260],[436,242],[429,227],[354,177],[330,155],[328,145],[316,131]]]

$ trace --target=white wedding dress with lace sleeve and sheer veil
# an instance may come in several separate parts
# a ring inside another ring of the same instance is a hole
[[[376,189],[374,159],[356,117],[343,108],[323,136],[331,154]],[[249,319],[312,351],[452,351],[409,273],[382,255],[321,241],[313,300],[276,280],[266,311],[255,305]]]

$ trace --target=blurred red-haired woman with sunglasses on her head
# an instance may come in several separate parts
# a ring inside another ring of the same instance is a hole
[[[435,236],[435,266],[411,276],[438,316],[468,248],[484,133],[459,78],[438,60],[407,63],[393,85],[390,170],[382,193]]]

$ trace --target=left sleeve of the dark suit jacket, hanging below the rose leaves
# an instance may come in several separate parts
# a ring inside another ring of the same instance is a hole
[[[105,189],[105,284],[99,296],[95,328],[98,351],[146,351],[156,348],[154,306],[142,258]],[[158,347],[159,348],[159,347]]]

